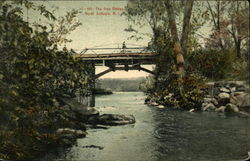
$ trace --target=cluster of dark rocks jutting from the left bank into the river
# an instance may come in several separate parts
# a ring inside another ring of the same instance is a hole
[[[98,125],[116,126],[135,123],[135,118],[132,115],[100,115],[99,111],[94,107],[84,106],[77,102],[75,98],[60,97],[57,103],[67,113],[66,119],[74,122],[72,126],[65,126],[56,130],[55,134],[62,146],[72,146],[75,144],[77,138],[85,137],[87,135],[86,125],[91,125],[88,127],[98,127]]]

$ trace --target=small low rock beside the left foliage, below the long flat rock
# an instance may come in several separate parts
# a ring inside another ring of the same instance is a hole
[[[87,135],[87,133],[82,131],[82,130],[75,130],[75,129],[70,129],[70,128],[58,129],[56,131],[56,134],[60,135],[61,137],[72,135],[72,136],[75,136],[77,138],[82,138],[82,137],[85,137]]]

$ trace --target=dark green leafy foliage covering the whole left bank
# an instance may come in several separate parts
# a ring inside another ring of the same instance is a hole
[[[44,6],[21,0],[0,2],[0,156],[11,160],[26,160],[55,143],[53,131],[69,123],[67,113],[55,104],[56,97],[89,88],[88,64],[75,60],[73,50],[57,47],[79,26],[64,26],[77,12],[59,19],[61,32],[49,31],[42,24],[26,22],[22,5],[56,22]]]

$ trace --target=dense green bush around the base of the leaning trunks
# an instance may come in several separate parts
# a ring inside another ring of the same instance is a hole
[[[187,72],[181,79],[174,72],[158,84],[148,89],[148,98],[165,106],[180,109],[199,109],[205,93],[206,78],[198,73]],[[160,87],[159,87],[160,85]]]

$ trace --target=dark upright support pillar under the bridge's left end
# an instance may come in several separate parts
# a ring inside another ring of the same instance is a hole
[[[94,90],[95,90],[95,64],[94,63],[91,63],[89,79],[90,79],[90,82],[89,82],[90,96],[89,96],[89,100],[88,100],[88,105],[90,107],[94,107],[95,106],[95,94],[94,94]]]

